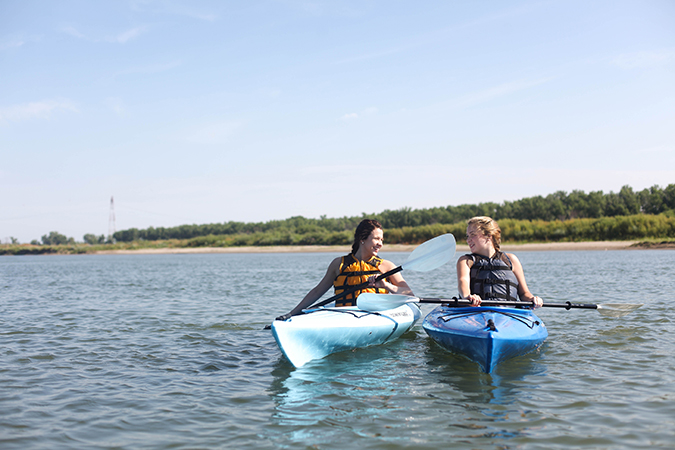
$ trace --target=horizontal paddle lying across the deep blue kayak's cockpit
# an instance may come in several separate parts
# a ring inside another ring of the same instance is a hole
[[[400,294],[372,294],[363,293],[356,298],[356,306],[364,311],[383,311],[386,309],[397,308],[406,303],[443,303],[448,306],[471,306],[471,302],[466,299],[457,298],[418,298],[410,295]],[[514,302],[483,300],[481,306],[534,306],[534,302]],[[592,303],[544,303],[542,307],[565,308],[565,309],[595,309],[603,316],[622,317],[638,309],[642,303],[605,303],[596,305]]]

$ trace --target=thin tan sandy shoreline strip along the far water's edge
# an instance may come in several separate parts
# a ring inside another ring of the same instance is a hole
[[[599,242],[549,242],[540,244],[503,244],[502,250],[509,253],[519,251],[570,251],[570,250],[641,250],[633,247],[640,241],[599,241]],[[382,253],[411,252],[418,245],[385,245]],[[658,247],[650,247],[658,248]],[[672,248],[672,247],[668,247]],[[200,253],[348,253],[349,245],[289,245],[269,247],[196,247],[196,248],[144,248],[138,250],[100,250],[96,255],[163,255],[163,254],[200,254]],[[457,245],[457,253],[468,253],[469,246]]]

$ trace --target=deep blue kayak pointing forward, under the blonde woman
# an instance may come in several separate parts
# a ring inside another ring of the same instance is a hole
[[[548,337],[541,319],[517,308],[439,306],[422,327],[442,347],[477,362],[486,373],[538,348]]]

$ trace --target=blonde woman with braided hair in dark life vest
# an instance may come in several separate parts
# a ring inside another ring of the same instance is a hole
[[[535,308],[543,300],[527,288],[520,260],[513,253],[501,251],[502,230],[497,222],[478,216],[467,222],[466,242],[470,254],[457,261],[459,295],[480,306],[483,300],[533,302]]]

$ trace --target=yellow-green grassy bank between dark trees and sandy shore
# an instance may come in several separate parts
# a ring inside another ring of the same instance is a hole
[[[566,221],[529,221],[504,219],[499,222],[504,244],[562,243],[597,241],[640,241],[638,248],[674,248],[675,218],[666,215],[638,214],[572,219]],[[387,244],[417,245],[444,233],[452,233],[464,242],[466,224],[433,224],[385,230]],[[191,239],[136,240],[116,244],[0,245],[0,255],[86,254],[114,250],[179,248],[232,248],[271,246],[348,246],[353,231],[284,229],[267,232],[199,236]]]

